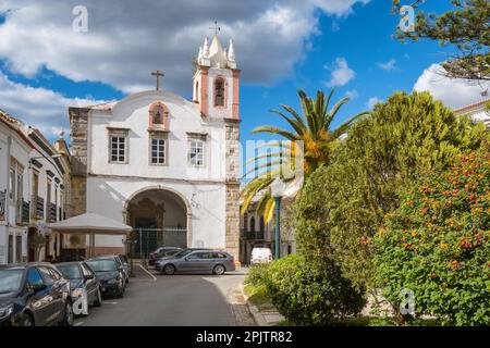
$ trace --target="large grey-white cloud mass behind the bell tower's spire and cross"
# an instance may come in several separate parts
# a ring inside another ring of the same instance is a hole
[[[26,76],[46,66],[124,92],[152,88],[149,73],[160,69],[163,88],[188,95],[192,57],[217,18],[222,42],[235,39],[243,82],[267,85],[289,76],[304,58],[305,45],[319,33],[316,9],[344,16],[356,2],[368,1],[84,0],[88,32],[75,33],[74,0],[0,0],[0,12],[15,9],[0,24],[0,59]]]

